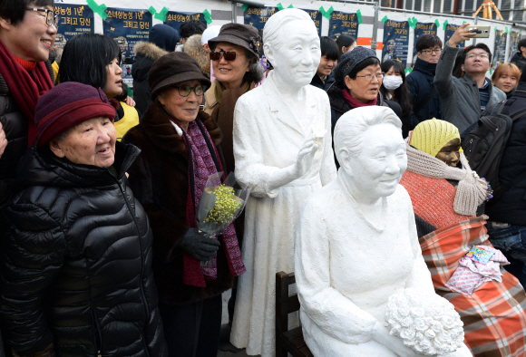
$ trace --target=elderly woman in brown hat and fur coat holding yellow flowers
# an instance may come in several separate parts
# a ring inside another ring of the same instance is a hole
[[[123,141],[141,149],[130,185],[153,231],[153,269],[170,356],[215,356],[221,293],[245,272],[230,225],[219,240],[196,227],[209,175],[224,171],[216,121],[200,111],[210,85],[188,53],[169,53],[151,66],[151,104]],[[200,262],[211,261],[209,267]]]

